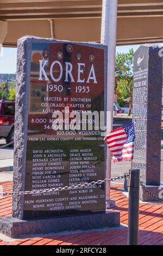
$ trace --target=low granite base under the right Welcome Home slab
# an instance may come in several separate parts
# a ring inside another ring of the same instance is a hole
[[[146,186],[152,194],[160,199],[163,197],[163,185],[160,186]],[[140,186],[140,200],[143,202],[160,202],[159,200],[150,196],[141,186]]]

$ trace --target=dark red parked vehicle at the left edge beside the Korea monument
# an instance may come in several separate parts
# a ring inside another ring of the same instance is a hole
[[[7,144],[14,138],[15,101],[0,101],[0,138],[5,138]],[[14,144],[10,145],[11,147]]]

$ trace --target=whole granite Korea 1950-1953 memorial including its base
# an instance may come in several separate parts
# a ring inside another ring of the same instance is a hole
[[[104,137],[91,114],[103,112],[106,124],[107,55],[100,44],[18,40],[13,191],[44,192],[13,196],[3,234],[120,225],[120,214],[105,210],[104,184],[50,191],[105,178]]]

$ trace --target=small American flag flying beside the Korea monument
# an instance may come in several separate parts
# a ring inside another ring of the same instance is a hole
[[[134,123],[111,131],[104,138],[113,157],[113,162],[129,161],[134,157]]]

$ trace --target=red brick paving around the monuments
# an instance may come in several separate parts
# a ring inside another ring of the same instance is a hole
[[[12,191],[12,182],[2,182],[3,191]],[[111,187],[111,199],[116,201],[112,210],[120,211],[121,223],[128,224],[128,198],[121,192],[122,186]],[[0,216],[11,215],[12,197],[0,197]],[[139,244],[163,245],[163,204],[140,204]],[[0,245],[127,245],[127,228],[83,232],[70,235],[33,237],[4,242]]]

